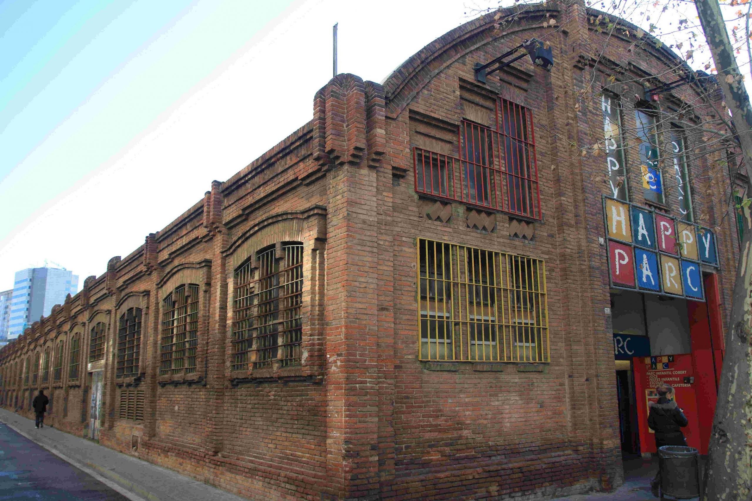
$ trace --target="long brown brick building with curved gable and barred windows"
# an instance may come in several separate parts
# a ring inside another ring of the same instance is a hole
[[[598,15],[528,6],[498,34],[489,14],[382,84],[333,78],[309,123],[3,348],[3,405],[31,415],[42,387],[55,427],[253,499],[620,484],[622,451],[645,450],[639,371],[687,355],[687,388],[714,398],[738,235],[718,202],[732,174],[706,175],[719,153],[681,157],[663,189],[671,163],[650,163],[656,140],[638,123],[702,106],[702,86],[643,102],[644,77],[668,81],[675,54],[635,46],[622,21],[606,43]],[[550,72],[525,57],[476,78],[476,63],[532,37],[550,44]],[[578,105],[592,82],[603,113]],[[681,144],[705,147],[707,133]],[[578,147],[604,139],[619,147]],[[645,144],[643,172],[626,169]],[[712,249],[655,248],[671,237],[661,223]],[[646,282],[654,260],[660,286]],[[650,332],[659,301],[663,323],[684,314],[682,332]],[[616,335],[656,360],[614,361]]]

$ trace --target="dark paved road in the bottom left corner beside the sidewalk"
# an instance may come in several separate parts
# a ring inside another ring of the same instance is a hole
[[[45,433],[50,428],[34,430]],[[127,498],[0,423],[0,500],[127,501]]]

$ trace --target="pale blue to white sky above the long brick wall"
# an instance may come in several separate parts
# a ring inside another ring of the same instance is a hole
[[[338,70],[381,81],[475,17],[466,11],[457,0],[0,2],[0,290],[45,260],[80,285],[101,275],[311,120],[335,23]]]

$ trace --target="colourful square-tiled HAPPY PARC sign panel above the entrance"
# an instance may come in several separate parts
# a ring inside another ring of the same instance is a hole
[[[705,300],[702,264],[718,266],[711,229],[604,196],[611,287]]]

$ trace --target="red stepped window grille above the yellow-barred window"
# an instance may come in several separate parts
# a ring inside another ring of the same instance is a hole
[[[496,123],[462,120],[459,158],[415,147],[415,191],[540,219],[532,111],[498,99]]]

